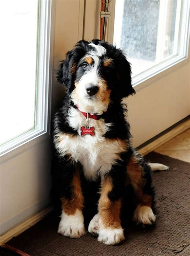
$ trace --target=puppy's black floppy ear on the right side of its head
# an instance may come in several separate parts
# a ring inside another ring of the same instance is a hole
[[[117,96],[119,99],[124,97],[128,97],[129,95],[135,94],[135,90],[131,84],[131,66],[127,61],[125,55],[121,50],[119,51],[119,56],[117,58],[117,82],[118,82],[118,90]]]

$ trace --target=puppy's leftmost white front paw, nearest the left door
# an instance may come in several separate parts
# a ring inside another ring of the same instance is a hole
[[[81,211],[77,210],[74,215],[67,215],[63,211],[58,233],[70,238],[78,238],[85,235],[84,217]]]

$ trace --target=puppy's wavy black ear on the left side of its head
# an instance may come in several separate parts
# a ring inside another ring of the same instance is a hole
[[[64,84],[69,92],[72,92],[75,87],[77,64],[87,51],[88,44],[89,42],[85,40],[79,41],[73,50],[67,52],[66,59],[61,61],[57,70],[57,81]]]

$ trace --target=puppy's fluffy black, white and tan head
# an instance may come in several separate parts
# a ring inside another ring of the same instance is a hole
[[[57,80],[67,87],[73,102],[90,113],[102,114],[111,101],[135,93],[123,52],[98,39],[79,41],[61,62]]]

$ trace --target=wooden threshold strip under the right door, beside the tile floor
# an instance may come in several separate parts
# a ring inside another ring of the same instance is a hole
[[[176,137],[180,133],[184,132],[185,130],[190,128],[190,119],[185,120],[184,122],[177,124],[175,127],[173,127],[168,132],[165,132],[164,134],[160,134],[158,138],[148,143],[148,145],[139,147],[137,151],[141,155],[146,155],[153,151],[154,149],[160,147],[164,143],[166,143],[168,140],[171,140],[172,138]]]

